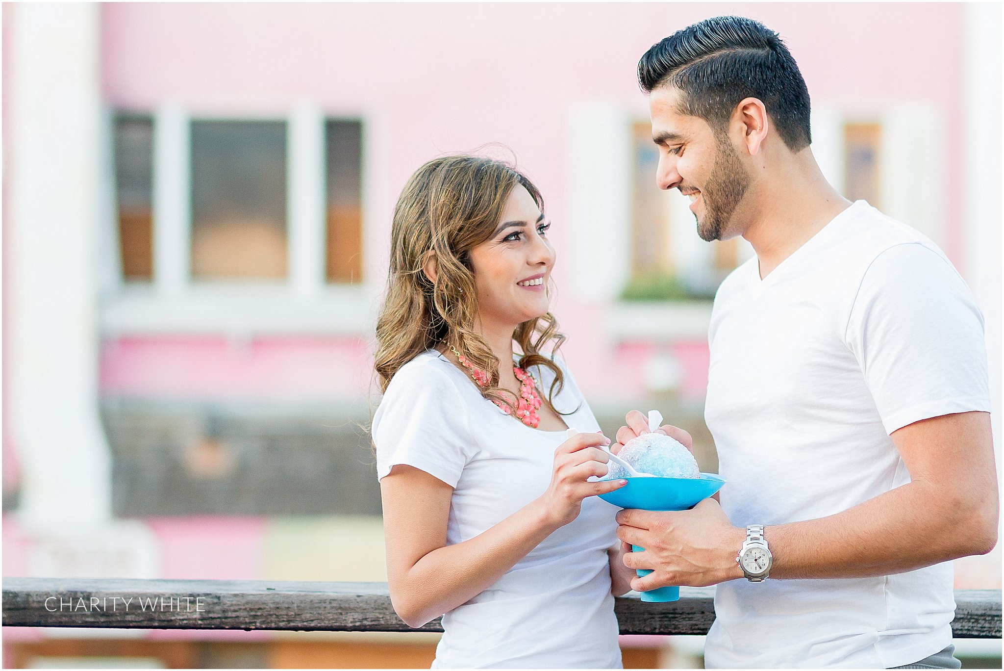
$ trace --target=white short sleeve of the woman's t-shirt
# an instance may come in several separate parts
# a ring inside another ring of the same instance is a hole
[[[406,365],[391,380],[372,423],[376,477],[407,464],[456,487],[473,443],[457,388],[433,366]]]

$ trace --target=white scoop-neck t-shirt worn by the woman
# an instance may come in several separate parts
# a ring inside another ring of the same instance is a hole
[[[560,359],[564,388],[553,399],[565,424],[599,430]],[[541,396],[553,373],[532,367]],[[469,540],[547,489],[565,431],[539,431],[504,414],[439,352],[395,374],[373,416],[376,474],[396,464],[454,488],[447,544]],[[443,616],[433,668],[621,668],[606,549],[618,508],[596,496],[491,587]]]

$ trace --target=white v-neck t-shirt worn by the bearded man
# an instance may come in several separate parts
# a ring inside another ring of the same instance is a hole
[[[741,527],[825,517],[904,485],[890,434],[990,411],[969,288],[931,240],[864,201],[765,278],[756,257],[733,271],[709,344],[705,419],[727,482],[722,508]],[[730,581],[717,590],[705,662],[912,664],[951,643],[952,583],[950,562],[877,578]]]

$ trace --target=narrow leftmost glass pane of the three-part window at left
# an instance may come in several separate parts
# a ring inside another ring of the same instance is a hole
[[[114,151],[122,278],[149,282],[154,279],[154,120],[117,117]]]

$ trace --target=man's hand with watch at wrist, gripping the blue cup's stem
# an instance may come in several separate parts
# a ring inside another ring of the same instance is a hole
[[[743,577],[736,555],[746,529],[733,526],[714,499],[679,512],[624,509],[617,522],[618,538],[645,547],[624,554],[624,566],[652,570],[632,580],[637,592],[669,585],[708,587]]]

